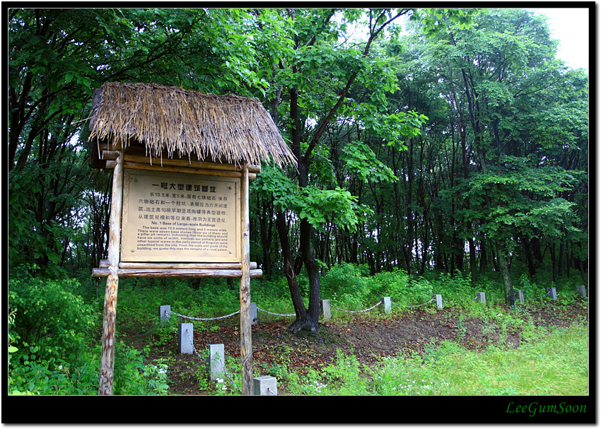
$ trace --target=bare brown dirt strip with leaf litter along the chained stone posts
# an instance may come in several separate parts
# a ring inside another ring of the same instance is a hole
[[[547,301],[542,306],[522,308],[516,314],[531,319],[537,326],[568,326],[576,319],[588,321],[588,307],[578,302],[564,305],[559,301]],[[498,307],[498,311],[509,310]],[[259,323],[252,327],[255,376],[276,376],[270,372],[282,365],[286,365],[288,371],[306,374],[310,368],[319,369],[334,363],[337,351],[355,355],[361,365],[373,365],[383,357],[421,355],[426,346],[444,340],[460,341],[466,348],[482,351],[491,343],[498,344],[500,339],[500,327],[495,326],[494,321],[461,317],[456,309],[413,310],[392,315],[380,315],[379,312],[344,314],[322,320],[317,334],[288,334],[286,328],[291,324],[291,318],[262,322],[261,315],[259,312]],[[194,348],[202,353],[209,344],[223,344],[226,356],[240,358],[239,317],[212,323],[211,329],[194,332]],[[148,338],[144,333],[133,333],[126,336],[125,341],[132,346],[145,346]],[[505,338],[506,346],[517,347],[520,331],[508,331]],[[180,354],[177,335],[161,346],[151,346],[149,360],[157,358],[170,358],[170,394],[207,394],[199,383],[204,360],[196,354]],[[285,383],[278,382],[278,394],[286,394]]]

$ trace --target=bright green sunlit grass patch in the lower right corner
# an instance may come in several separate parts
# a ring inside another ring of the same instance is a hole
[[[387,359],[361,372],[354,356],[309,380],[292,394],[327,395],[587,395],[588,327],[573,324],[518,348],[469,351],[453,341],[431,346],[423,359]]]

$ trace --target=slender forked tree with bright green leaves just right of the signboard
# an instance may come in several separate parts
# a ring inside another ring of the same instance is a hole
[[[395,90],[396,85],[392,73],[394,68],[385,67],[385,64],[391,65],[390,61],[373,54],[373,46],[378,36],[397,18],[410,13],[409,9],[366,11],[366,40],[346,41],[342,42],[342,46],[336,45],[346,23],[356,23],[361,11],[342,11],[343,25],[333,21],[334,9],[288,9],[279,12],[285,13],[284,18],[291,23],[286,35],[289,42],[284,45],[291,46],[292,50],[288,52],[288,57],[274,64],[275,85],[281,88],[278,94],[282,97],[287,95],[288,105],[285,120],[280,113],[278,119],[290,136],[298,170],[296,184],[284,180],[281,175],[269,176],[272,172],[266,170],[261,175],[261,186],[267,192],[271,189],[270,197],[278,208],[276,224],[284,257],[284,273],[296,311],[296,322],[290,329],[315,331],[320,310],[319,269],[313,246],[315,229],[321,228],[327,221],[343,228],[356,228],[359,219],[356,212],[360,208],[348,190],[323,181],[323,170],[319,170],[323,165],[317,165],[317,161],[327,159],[320,156],[320,153],[327,153],[322,146],[326,131],[332,122],[352,118],[380,139],[385,138],[391,145],[402,146],[399,136],[416,132],[424,118],[407,112],[387,114],[378,107],[385,105],[384,94]],[[277,15],[274,11],[259,13],[262,28],[273,23],[274,17],[270,15],[273,13]],[[374,75],[378,78],[374,79]],[[369,88],[368,101],[348,99],[356,84]],[[277,100],[274,102],[277,105]],[[392,180],[394,177],[390,171],[380,168],[371,149],[361,141],[351,141],[343,151],[341,158],[344,165],[363,181],[378,172],[384,172],[384,176],[378,177],[378,180]],[[319,174],[315,175],[315,172]],[[294,195],[293,189],[298,192],[298,198],[290,201],[289,196]],[[279,190],[283,193],[279,194]],[[304,305],[296,282],[299,264],[295,264],[291,252],[284,208],[296,208],[298,216],[299,252],[310,285],[308,307]]]

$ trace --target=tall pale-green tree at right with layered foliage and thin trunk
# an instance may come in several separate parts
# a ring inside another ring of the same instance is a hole
[[[460,139],[471,146],[477,165],[455,189],[462,201],[457,216],[479,224],[493,245],[506,302],[513,306],[509,258],[518,237],[575,232],[568,221],[573,204],[559,197],[573,187],[573,177],[542,165],[535,149],[544,148],[542,141],[524,127],[541,107],[536,99],[559,85],[561,64],[554,61],[556,43],[548,28],[530,12],[481,13],[477,29],[447,22],[431,49]]]

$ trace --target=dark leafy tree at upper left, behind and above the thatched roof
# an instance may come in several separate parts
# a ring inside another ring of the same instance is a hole
[[[87,193],[98,216],[76,216],[86,213],[81,194],[95,186],[85,151],[93,90],[117,80],[186,83],[205,92],[261,90],[265,84],[247,61],[254,51],[245,42],[245,17],[238,9],[9,10],[13,275],[16,267],[60,269],[71,245],[85,245],[76,237],[82,223],[105,228],[109,201],[101,193]]]

